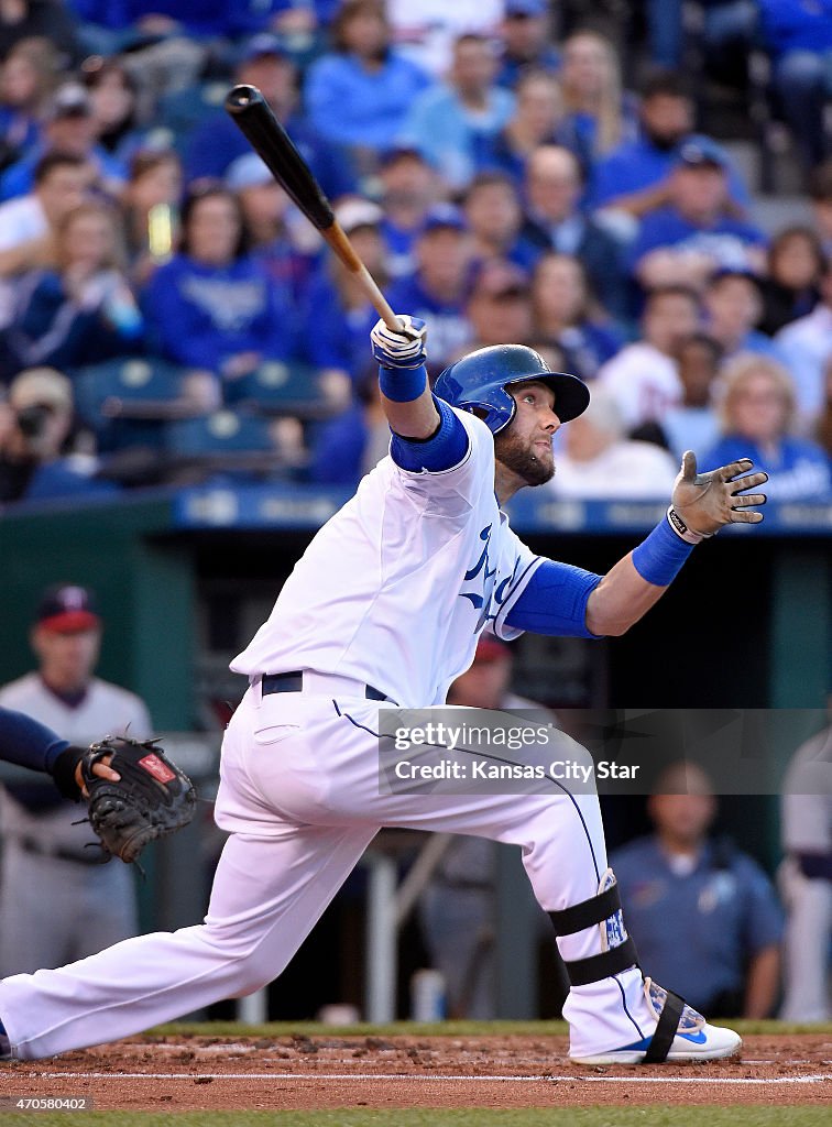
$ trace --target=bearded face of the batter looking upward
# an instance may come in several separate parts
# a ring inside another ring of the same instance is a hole
[[[551,440],[560,427],[555,392],[545,383],[522,383],[506,390],[517,410],[494,440],[495,458],[528,486],[542,486],[555,476]]]

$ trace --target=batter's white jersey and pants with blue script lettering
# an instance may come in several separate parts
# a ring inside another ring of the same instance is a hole
[[[457,414],[462,461],[430,473],[383,459],[232,663],[251,684],[223,740],[215,817],[231,836],[205,922],[6,979],[0,1019],[16,1056],[113,1040],[271,982],[381,826],[522,845],[547,911],[596,895],[607,858],[594,793],[380,793],[379,711],[392,706],[366,699],[366,686],[402,707],[442,702],[483,628],[517,632],[505,619],[540,562],[499,512],[490,432]],[[302,692],[263,694],[262,675],[293,671]],[[599,955],[602,929],[558,944],[567,960]],[[574,1055],[655,1029],[636,968],[573,988],[565,1015]]]

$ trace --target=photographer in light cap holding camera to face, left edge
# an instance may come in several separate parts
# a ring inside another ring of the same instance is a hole
[[[51,367],[20,372],[0,403],[0,504],[115,491],[97,469],[67,376]]]

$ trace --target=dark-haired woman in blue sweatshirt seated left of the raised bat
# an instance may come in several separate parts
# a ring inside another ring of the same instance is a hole
[[[144,293],[151,344],[231,384],[263,360],[289,358],[294,345],[287,298],[245,248],[233,193],[216,185],[192,190],[180,252],[159,267]]]

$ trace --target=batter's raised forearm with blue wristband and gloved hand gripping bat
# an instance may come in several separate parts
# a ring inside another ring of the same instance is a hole
[[[379,321],[370,334],[379,362],[381,403],[393,434],[416,441],[430,438],[440,426],[425,370],[425,322],[400,317],[404,331]]]

